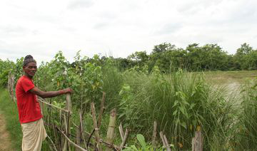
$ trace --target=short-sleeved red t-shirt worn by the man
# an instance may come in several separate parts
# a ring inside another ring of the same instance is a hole
[[[33,81],[21,76],[16,84],[16,98],[20,123],[30,123],[42,118],[41,109],[35,94],[29,92],[35,85]]]

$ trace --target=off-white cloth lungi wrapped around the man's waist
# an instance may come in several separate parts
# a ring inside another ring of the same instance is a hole
[[[22,151],[40,151],[46,130],[42,118],[31,123],[22,123]]]

